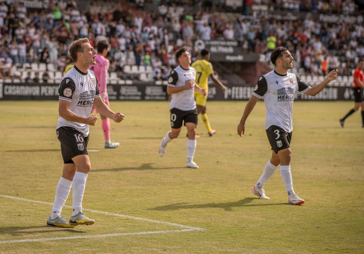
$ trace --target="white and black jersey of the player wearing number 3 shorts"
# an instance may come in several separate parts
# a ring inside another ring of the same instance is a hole
[[[261,76],[253,95],[264,99],[265,130],[276,125],[286,132],[291,132],[293,100],[298,92],[304,93],[309,89],[309,85],[302,82],[294,73],[287,72],[286,75],[281,75],[271,71]]]

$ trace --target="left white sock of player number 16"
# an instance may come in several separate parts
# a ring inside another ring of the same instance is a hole
[[[56,188],[56,196],[54,197],[51,219],[54,219],[61,214],[64,203],[66,203],[68,195],[70,194],[71,186],[72,181],[63,177],[59,179]]]

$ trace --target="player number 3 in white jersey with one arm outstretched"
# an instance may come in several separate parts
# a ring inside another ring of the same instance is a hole
[[[291,160],[290,140],[292,137],[293,100],[298,92],[315,96],[330,81],[336,79],[338,71],[332,70],[322,82],[310,87],[302,82],[296,74],[287,72],[292,68],[293,64],[293,56],[287,48],[278,47],[274,49],[270,55],[270,61],[274,64],[275,70],[268,72],[259,79],[253,95],[245,106],[237,131],[238,135],[244,135],[246,119],[257,101],[264,98],[266,107],[265,130],[273,152],[263,174],[254,185],[252,193],[261,199],[269,199],[265,195],[263,186],[277,170],[277,167],[281,165],[280,172],[288,194],[288,203],[302,205],[305,201],[293,191],[289,165]]]

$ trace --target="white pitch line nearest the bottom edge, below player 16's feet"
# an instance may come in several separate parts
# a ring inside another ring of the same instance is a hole
[[[195,231],[195,229],[161,230],[161,231],[146,231],[146,232],[134,232],[134,233],[115,233],[115,234],[98,234],[98,235],[80,235],[80,236],[76,236],[76,237],[52,237],[52,238],[39,238],[39,239],[22,239],[22,240],[0,241],[0,244],[1,243],[18,243],[18,242],[44,242],[44,241],[79,239],[79,238],[116,237],[116,236],[120,236],[120,235],[160,234],[160,233],[187,232],[187,231]]]

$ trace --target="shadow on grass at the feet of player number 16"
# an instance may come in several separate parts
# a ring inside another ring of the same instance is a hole
[[[49,232],[70,232],[70,233],[87,233],[87,231],[75,230],[76,228],[65,229],[64,227],[53,227],[53,226],[34,226],[34,227],[0,227],[0,234],[8,234],[15,237],[22,235],[31,235],[36,233],[49,233]]]

